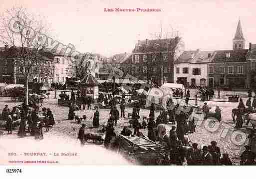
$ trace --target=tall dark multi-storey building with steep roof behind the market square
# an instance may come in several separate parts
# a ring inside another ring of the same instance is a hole
[[[174,81],[174,61],[184,51],[180,37],[138,41],[121,68],[139,80],[155,86]]]

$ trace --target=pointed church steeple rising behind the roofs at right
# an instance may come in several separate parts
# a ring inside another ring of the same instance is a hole
[[[245,38],[242,30],[242,25],[240,19],[238,21],[238,26],[236,30],[235,37],[233,38],[233,49],[244,49],[245,48]]]

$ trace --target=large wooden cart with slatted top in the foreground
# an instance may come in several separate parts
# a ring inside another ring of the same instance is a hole
[[[116,137],[117,151],[130,162],[138,165],[161,165],[164,146],[139,137]]]

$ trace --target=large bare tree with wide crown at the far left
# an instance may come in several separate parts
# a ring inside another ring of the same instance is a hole
[[[12,46],[16,71],[25,78],[26,104],[28,104],[28,79],[32,67],[41,61],[47,24],[42,18],[23,7],[12,7],[0,14],[0,42]],[[14,74],[16,73],[14,70]]]

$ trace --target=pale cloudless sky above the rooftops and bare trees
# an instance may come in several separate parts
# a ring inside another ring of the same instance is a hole
[[[232,49],[240,18],[246,48],[256,44],[256,0],[0,0],[44,16],[52,37],[79,52],[112,56],[131,52],[138,40],[152,39],[160,24],[179,34],[185,50]],[[104,8],[156,8],[159,12],[105,12]],[[177,32],[178,31],[178,32]]]

